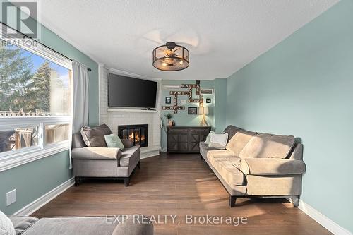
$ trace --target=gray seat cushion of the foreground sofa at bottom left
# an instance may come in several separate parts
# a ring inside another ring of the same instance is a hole
[[[113,218],[109,223],[105,217],[48,217],[38,220],[23,235],[111,235],[117,225],[113,222]]]

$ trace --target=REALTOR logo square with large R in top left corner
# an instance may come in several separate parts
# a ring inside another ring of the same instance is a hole
[[[40,30],[34,20],[37,19],[37,7],[37,1],[1,1],[2,37],[23,38],[27,35],[37,39]]]

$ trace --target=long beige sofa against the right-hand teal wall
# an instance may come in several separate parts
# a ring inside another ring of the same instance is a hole
[[[303,145],[292,135],[273,135],[228,126],[225,150],[200,143],[200,152],[229,193],[229,205],[237,198],[292,198],[298,206],[301,176],[306,171]]]

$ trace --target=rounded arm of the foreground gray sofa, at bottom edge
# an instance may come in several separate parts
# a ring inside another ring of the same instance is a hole
[[[153,224],[143,215],[128,215],[124,222],[116,225],[112,235],[153,235]]]

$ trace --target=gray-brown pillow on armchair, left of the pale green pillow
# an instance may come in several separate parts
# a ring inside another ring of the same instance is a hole
[[[104,135],[110,135],[112,133],[105,124],[95,127],[83,126],[80,132],[83,141],[85,141],[88,147],[107,147]]]

